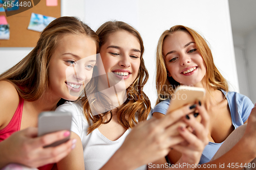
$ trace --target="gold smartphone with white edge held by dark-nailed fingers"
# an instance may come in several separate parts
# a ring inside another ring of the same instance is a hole
[[[174,94],[166,113],[170,113],[186,104],[194,104],[196,100],[202,100],[205,89],[201,87],[179,86]]]

